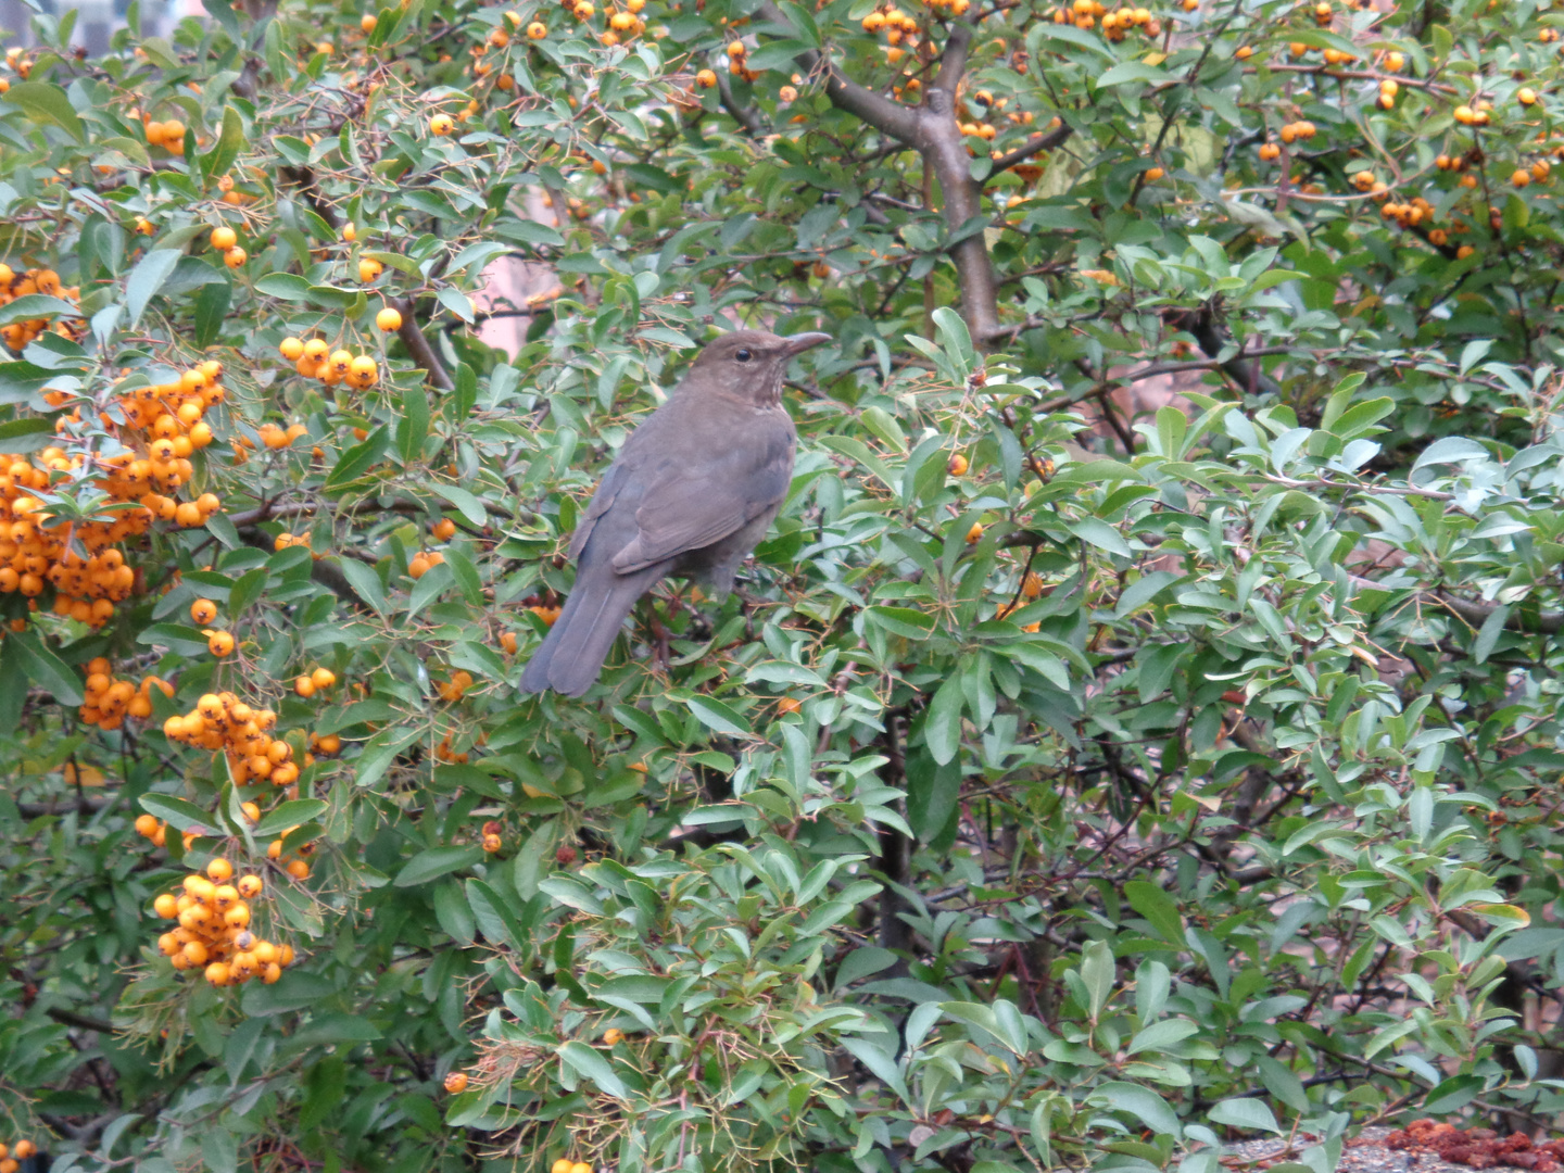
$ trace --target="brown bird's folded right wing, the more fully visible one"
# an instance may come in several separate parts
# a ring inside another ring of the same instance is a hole
[[[662,463],[635,511],[638,535],[613,555],[618,574],[698,551],[738,532],[787,496],[793,479],[791,422],[749,435],[699,468]]]

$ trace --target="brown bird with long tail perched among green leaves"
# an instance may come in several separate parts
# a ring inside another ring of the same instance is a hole
[[[624,616],[669,574],[727,593],[793,480],[798,436],[782,375],[793,355],[829,339],[738,330],[701,352],[624,441],[576,527],[576,586],[522,673],[524,693],[591,688]]]

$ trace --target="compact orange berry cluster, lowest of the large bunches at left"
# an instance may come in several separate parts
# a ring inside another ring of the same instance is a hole
[[[178,926],[158,937],[158,952],[175,970],[196,970],[213,985],[244,985],[260,978],[271,985],[292,963],[291,945],[274,945],[250,931],[247,901],[261,895],[260,876],[233,879],[233,865],[217,857],[206,874],[192,871],[183,891],[163,893],[153,901],[160,917]]]

